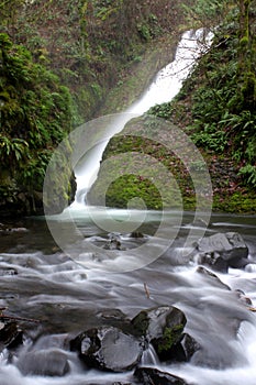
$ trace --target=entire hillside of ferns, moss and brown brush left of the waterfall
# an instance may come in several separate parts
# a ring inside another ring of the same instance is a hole
[[[14,0],[0,11],[0,212],[41,213],[54,148],[97,114],[147,46],[176,33],[181,10],[169,0]],[[75,182],[53,183],[59,211]]]

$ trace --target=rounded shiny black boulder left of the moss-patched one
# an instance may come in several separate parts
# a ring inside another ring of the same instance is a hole
[[[143,353],[142,341],[114,327],[85,331],[70,342],[80,359],[91,367],[125,372],[133,369]]]

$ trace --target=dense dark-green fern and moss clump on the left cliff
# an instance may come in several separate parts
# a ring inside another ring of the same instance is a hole
[[[71,129],[69,90],[57,75],[35,64],[31,53],[0,34],[1,179],[8,170],[22,190],[42,191],[45,170],[56,145]],[[64,164],[64,163],[63,163]],[[59,196],[62,182],[58,180]]]

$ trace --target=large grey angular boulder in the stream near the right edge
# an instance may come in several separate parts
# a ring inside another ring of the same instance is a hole
[[[229,266],[241,268],[249,263],[248,248],[236,232],[204,237],[198,242],[197,250],[199,263],[220,272],[227,272]]]

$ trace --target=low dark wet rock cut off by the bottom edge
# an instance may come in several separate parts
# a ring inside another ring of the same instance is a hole
[[[134,376],[137,377],[144,385],[186,385],[187,383],[176,375],[160,372],[153,367],[137,367],[134,372]]]

